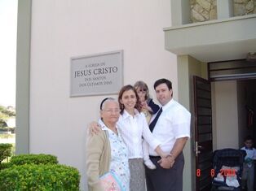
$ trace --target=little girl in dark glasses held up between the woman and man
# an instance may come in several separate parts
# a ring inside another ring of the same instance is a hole
[[[147,118],[147,122],[149,124],[152,115],[156,114],[160,107],[152,101],[152,98],[149,97],[148,85],[145,82],[137,81],[134,87],[139,96],[139,102],[142,108],[141,111]],[[143,141],[143,162],[149,169],[156,168],[149,159],[148,143],[146,141]]]

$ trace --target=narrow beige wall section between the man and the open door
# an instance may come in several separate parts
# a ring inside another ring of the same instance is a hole
[[[193,76],[206,78],[207,68],[205,63],[188,55],[178,56],[178,86],[179,102],[185,106],[192,115],[191,138],[184,148],[185,167],[183,171],[183,190],[193,191],[196,189],[196,161],[194,153],[194,108],[193,108]]]

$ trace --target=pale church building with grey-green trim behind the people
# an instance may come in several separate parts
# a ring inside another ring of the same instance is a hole
[[[200,153],[238,149],[242,137],[254,133],[254,128],[244,128],[244,105],[249,103],[243,92],[255,93],[255,1],[22,0],[18,4],[16,154],[56,155],[60,163],[77,167],[81,189],[87,190],[86,126],[99,118],[100,101],[109,94],[117,97],[117,91],[113,86],[104,89],[106,84],[101,85],[103,92],[101,88],[79,92],[82,85],[73,89],[80,83],[72,75],[73,64],[81,58],[85,63],[79,68],[88,67],[90,56],[110,53],[119,54],[114,66],[121,73],[112,79],[117,87],[143,80],[157,102],[153,83],[167,78],[173,83],[174,99],[192,113],[191,139],[183,151],[184,191],[207,190],[210,184],[210,175],[196,176],[196,169],[210,169],[210,162],[201,163]],[[242,70],[233,72],[237,65]],[[206,89],[205,99],[211,104],[205,115],[197,110],[198,79],[211,87]],[[207,121],[203,132],[198,131],[201,117]]]

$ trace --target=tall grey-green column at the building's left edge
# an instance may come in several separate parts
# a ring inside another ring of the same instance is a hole
[[[29,154],[29,63],[32,0],[18,1],[15,154]]]

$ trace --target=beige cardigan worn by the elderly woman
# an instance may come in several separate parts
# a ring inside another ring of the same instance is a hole
[[[109,171],[111,158],[108,132],[99,131],[88,135],[86,141],[86,176],[89,191],[104,191],[99,185],[99,176]]]

